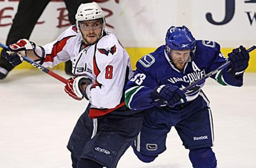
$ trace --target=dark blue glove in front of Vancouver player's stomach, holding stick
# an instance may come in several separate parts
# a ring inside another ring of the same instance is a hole
[[[156,86],[152,91],[152,99],[158,107],[174,107],[187,101],[186,95],[177,86],[170,84]]]

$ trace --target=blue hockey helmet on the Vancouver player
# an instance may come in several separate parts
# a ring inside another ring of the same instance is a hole
[[[190,50],[191,57],[195,53],[196,39],[186,26],[171,26],[165,36],[166,52],[169,54],[174,50]]]

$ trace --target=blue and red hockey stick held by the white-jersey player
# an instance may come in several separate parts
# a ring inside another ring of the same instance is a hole
[[[8,50],[8,46],[4,45],[3,43],[0,42],[0,47],[2,47],[5,50]],[[64,84],[67,84],[68,80],[65,79],[64,77],[61,77],[60,75],[56,74],[55,72],[53,72],[50,69],[45,68],[44,66],[36,63],[35,61],[31,60],[30,58],[26,57],[26,56],[22,56],[23,60],[25,60],[26,62],[28,62],[29,64],[33,65],[34,67],[36,67],[37,69],[40,69],[41,71],[47,73],[48,75],[54,77],[55,79],[58,79],[59,81],[63,82]]]

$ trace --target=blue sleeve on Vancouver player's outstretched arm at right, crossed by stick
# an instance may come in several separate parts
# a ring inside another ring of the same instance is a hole
[[[227,62],[227,58],[221,54],[220,45],[216,43],[213,48],[212,62],[210,66],[206,69],[205,73],[209,73],[214,69],[218,68],[222,64]],[[218,73],[212,75],[211,77],[215,79],[219,84],[224,86],[232,85],[232,86],[242,86],[243,85],[243,75],[233,76],[228,73],[229,67],[220,70]]]

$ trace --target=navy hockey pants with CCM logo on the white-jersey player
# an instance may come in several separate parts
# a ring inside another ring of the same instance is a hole
[[[118,160],[139,134],[143,113],[122,115],[113,111],[91,119],[90,105],[78,119],[68,142],[73,167],[79,158],[91,159],[107,168],[115,168]]]

